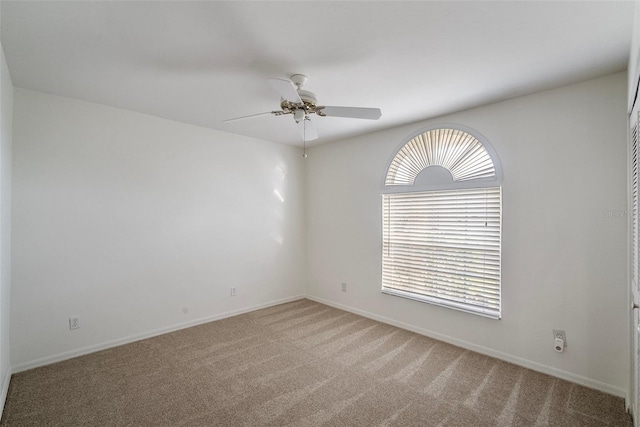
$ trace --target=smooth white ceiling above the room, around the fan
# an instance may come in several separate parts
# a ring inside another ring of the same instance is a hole
[[[617,1],[6,1],[15,86],[301,145],[266,78],[309,76],[335,141],[627,67],[634,3]]]

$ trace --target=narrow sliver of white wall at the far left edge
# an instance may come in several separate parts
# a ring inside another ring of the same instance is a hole
[[[0,45],[0,408],[9,388],[11,298],[11,141],[13,84]]]

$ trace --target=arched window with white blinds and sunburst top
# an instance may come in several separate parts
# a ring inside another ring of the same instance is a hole
[[[490,150],[459,126],[398,150],[382,195],[382,292],[500,318],[501,171]]]

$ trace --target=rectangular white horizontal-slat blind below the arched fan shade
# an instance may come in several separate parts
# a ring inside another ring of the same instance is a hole
[[[382,291],[500,318],[500,187],[382,195]]]

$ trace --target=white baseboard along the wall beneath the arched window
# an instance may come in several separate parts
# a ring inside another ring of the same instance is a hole
[[[541,363],[537,363],[528,359],[524,359],[518,356],[513,356],[511,354],[502,353],[497,350],[493,350],[488,347],[484,347],[481,345],[473,344],[468,341],[459,340],[457,338],[453,338],[447,335],[440,334],[438,332],[434,332],[428,329],[420,328],[414,325],[410,325],[408,323],[400,322],[385,316],[380,316],[374,313],[370,313],[368,311],[360,310],[351,306],[335,303],[333,301],[328,301],[323,298],[318,298],[316,296],[307,295],[307,299],[312,301],[319,302],[321,304],[326,304],[335,308],[339,308],[344,311],[348,311],[350,313],[358,314],[363,317],[367,317],[369,319],[377,320],[382,323],[386,323],[388,325],[397,326],[398,328],[402,328],[411,332],[415,332],[420,335],[427,336],[429,338],[434,338],[440,341],[444,341],[449,344],[453,344],[458,347],[465,348],[467,350],[475,351],[477,353],[484,354],[486,356],[495,357],[496,359],[503,360],[505,362],[513,363],[518,366],[522,366],[524,368],[528,368],[537,372],[541,372],[543,374],[551,375],[563,380],[567,380],[576,384],[583,385],[585,387],[593,388],[595,390],[602,391],[604,393],[612,394],[614,396],[626,398],[627,391],[621,389],[619,387],[614,387],[610,384],[603,383],[601,381],[597,381],[591,378],[583,377],[581,375],[576,375],[571,372],[563,371],[561,369],[554,368],[552,366],[543,365]]]

